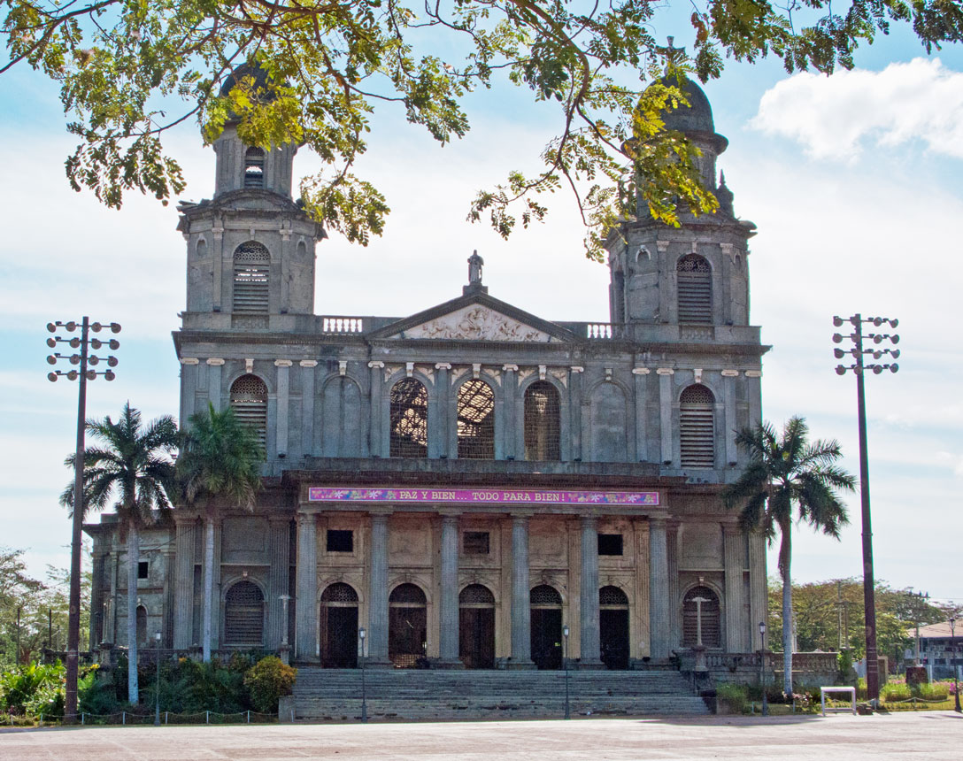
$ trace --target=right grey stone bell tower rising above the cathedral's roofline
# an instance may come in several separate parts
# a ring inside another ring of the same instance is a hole
[[[670,227],[654,220],[639,199],[636,220],[610,233],[610,319],[636,340],[651,333],[646,326],[749,324],[746,256],[755,224],[735,216],[733,194],[724,177],[716,178],[716,159],[728,141],[716,134],[709,99],[697,84],[686,77],[665,83],[689,101],[665,114],[665,128],[684,133],[699,149],[701,181],[719,208],[699,217],[679,209],[681,226]]]

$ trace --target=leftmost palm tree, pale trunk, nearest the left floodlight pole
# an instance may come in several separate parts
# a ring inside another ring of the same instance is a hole
[[[169,455],[177,445],[177,425],[164,415],[142,426],[141,412],[127,402],[117,423],[108,415],[88,420],[86,427],[101,446],[84,451],[84,513],[111,506],[116,495],[113,507],[127,533],[127,698],[137,703],[138,532],[170,509],[167,489],[173,484],[174,465]],[[75,457],[70,455],[65,464],[73,467]],[[72,481],[60,501],[72,514]]]

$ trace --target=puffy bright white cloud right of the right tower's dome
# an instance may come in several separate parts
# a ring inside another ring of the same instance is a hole
[[[763,95],[750,123],[817,158],[852,160],[867,144],[914,140],[963,158],[963,73],[916,58],[882,71],[796,74]]]

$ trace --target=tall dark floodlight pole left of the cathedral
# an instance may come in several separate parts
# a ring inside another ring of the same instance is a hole
[[[91,354],[94,351],[107,347],[117,350],[120,346],[116,338],[102,341],[99,338],[91,338],[91,330],[99,333],[104,328],[109,328],[112,333],[119,333],[120,326],[117,323],[101,325],[91,323],[90,318],[84,317],[80,323],[69,321],[63,323],[47,323],[47,330],[56,333],[60,329],[68,333],[80,328],[80,336],[62,338],[53,335],[47,339],[47,346],[56,349],[58,344],[66,344],[71,349],[80,350],[75,354],[61,354],[55,352],[47,356],[47,363],[56,365],[62,359],[66,359],[71,365],[77,365],[76,370],[52,370],[47,373],[47,380],[56,381],[61,376],[67,380],[80,380],[77,394],[77,449],[74,454],[74,479],[73,479],[73,524],[70,535],[70,593],[67,610],[66,627],[66,674],[64,688],[64,723],[74,723],[77,721],[77,670],[80,649],[80,552],[81,538],[84,530],[84,431],[87,423],[87,381],[94,380],[98,375],[102,375],[106,380],[114,380],[114,371],[111,368],[117,367],[117,357],[113,354],[101,357]],[[89,366],[96,366],[100,362],[106,362],[107,370],[97,372],[88,369]]]

